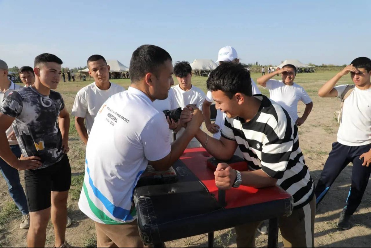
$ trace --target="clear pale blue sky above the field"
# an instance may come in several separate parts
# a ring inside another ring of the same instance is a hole
[[[138,46],[153,44],[174,62],[215,61],[229,45],[243,63],[343,65],[371,57],[370,14],[371,0],[0,0],[0,59],[33,66],[49,52],[72,68],[101,54],[129,66]]]

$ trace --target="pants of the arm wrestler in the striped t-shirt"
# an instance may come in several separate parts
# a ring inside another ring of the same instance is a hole
[[[292,211],[288,217],[278,218],[284,247],[314,247],[314,219],[316,198],[305,206]],[[235,226],[237,247],[255,247],[256,228],[260,222]]]

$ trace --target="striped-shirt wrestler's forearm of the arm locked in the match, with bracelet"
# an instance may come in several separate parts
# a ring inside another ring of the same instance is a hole
[[[217,140],[216,138],[208,136],[204,131],[201,129],[197,131],[196,136],[197,140],[201,143],[201,145],[216,159],[219,160],[230,160],[233,156],[233,153],[230,154],[226,149],[223,142]],[[207,140],[207,143],[206,143]],[[206,146],[205,146],[206,144]]]

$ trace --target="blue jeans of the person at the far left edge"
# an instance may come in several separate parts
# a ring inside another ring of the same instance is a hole
[[[21,151],[18,145],[10,146],[10,149],[18,158],[21,156]],[[26,195],[24,194],[23,187],[19,180],[19,172],[12,166],[7,164],[4,160],[0,158],[0,170],[1,174],[8,185],[8,191],[10,196],[13,198],[14,203],[16,203],[17,208],[23,215],[28,214]]]

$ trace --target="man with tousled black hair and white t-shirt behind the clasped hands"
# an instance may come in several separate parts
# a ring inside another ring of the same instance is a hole
[[[174,98],[177,107],[184,108],[189,104],[196,105],[202,111],[202,104],[205,101],[205,93],[202,89],[192,85],[192,68],[187,61],[178,62],[174,65],[174,75],[176,76],[179,84],[171,87],[174,91]],[[184,132],[184,128],[181,128],[177,136]],[[188,144],[187,148],[200,147],[200,142],[196,138],[193,138]]]

